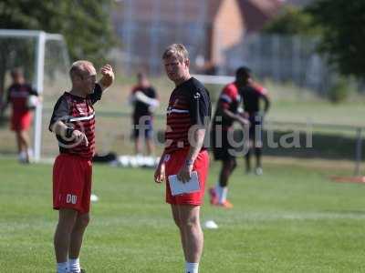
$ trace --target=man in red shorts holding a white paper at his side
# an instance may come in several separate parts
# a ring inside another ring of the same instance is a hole
[[[186,273],[197,273],[203,251],[200,207],[208,174],[209,156],[203,140],[211,116],[208,91],[190,76],[189,56],[181,44],[167,47],[162,56],[167,76],[175,84],[167,108],[165,149],[156,169],[156,182],[166,182],[166,202],[180,229]],[[186,183],[196,171],[199,190],[172,196],[169,176]]]

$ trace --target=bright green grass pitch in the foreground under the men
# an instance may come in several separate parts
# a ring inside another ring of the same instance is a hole
[[[210,185],[218,170],[213,164]],[[202,222],[219,228],[204,230],[201,272],[364,272],[365,188],[328,179],[350,170],[266,158],[265,171],[236,170],[232,210],[206,198]],[[152,173],[95,166],[99,202],[81,255],[88,272],[183,272],[177,228]],[[0,181],[0,272],[54,272],[51,166],[0,159]]]

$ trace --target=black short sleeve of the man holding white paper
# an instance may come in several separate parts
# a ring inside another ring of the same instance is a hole
[[[209,94],[204,88],[193,91],[189,110],[193,125],[205,125],[205,119],[211,116],[212,106]]]

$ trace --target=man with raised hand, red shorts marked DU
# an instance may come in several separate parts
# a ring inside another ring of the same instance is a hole
[[[53,167],[53,207],[58,210],[54,244],[57,273],[81,271],[79,252],[89,224],[91,158],[95,153],[95,112],[103,90],[114,80],[110,65],[101,79],[89,61],[77,61],[70,70],[72,88],[57,100],[49,130],[56,134],[60,154]]]

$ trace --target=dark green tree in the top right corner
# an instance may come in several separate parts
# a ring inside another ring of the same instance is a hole
[[[345,76],[365,79],[365,1],[318,0],[306,9],[321,25],[320,51]]]

